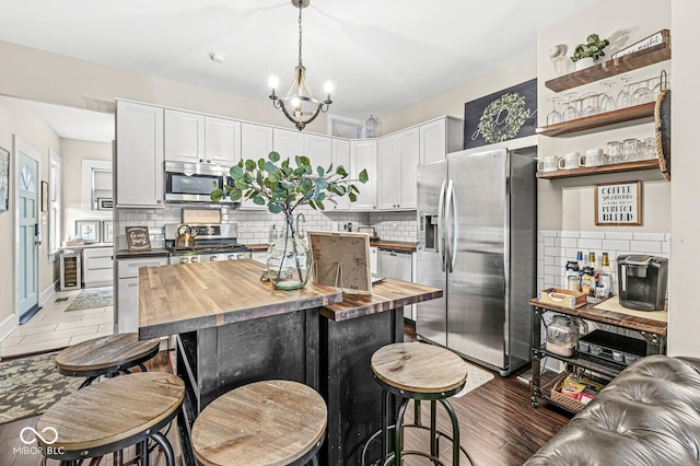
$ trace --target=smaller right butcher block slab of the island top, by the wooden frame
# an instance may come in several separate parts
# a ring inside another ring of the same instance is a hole
[[[442,298],[440,288],[385,278],[372,286],[372,294],[345,293],[342,302],[327,304],[320,314],[336,322],[348,321],[438,298]]]

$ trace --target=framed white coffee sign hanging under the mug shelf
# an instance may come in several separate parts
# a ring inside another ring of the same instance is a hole
[[[595,185],[596,225],[641,225],[642,182]]]

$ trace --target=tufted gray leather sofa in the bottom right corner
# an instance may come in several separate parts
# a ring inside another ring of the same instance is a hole
[[[700,359],[640,359],[525,465],[700,465]]]

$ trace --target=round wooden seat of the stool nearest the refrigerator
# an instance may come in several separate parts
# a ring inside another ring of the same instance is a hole
[[[467,381],[467,364],[454,352],[433,345],[387,345],[372,354],[377,380],[397,391],[452,396]]]

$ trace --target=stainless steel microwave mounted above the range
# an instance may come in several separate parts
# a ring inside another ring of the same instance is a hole
[[[165,162],[166,202],[211,202],[214,188],[229,183],[229,167],[197,163]],[[231,202],[229,197],[221,202]]]

